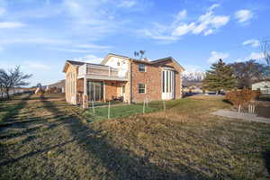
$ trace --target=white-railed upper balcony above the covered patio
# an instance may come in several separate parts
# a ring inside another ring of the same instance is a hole
[[[97,80],[128,80],[128,70],[122,68],[113,68],[103,65],[85,64],[78,68],[78,78],[88,78]]]

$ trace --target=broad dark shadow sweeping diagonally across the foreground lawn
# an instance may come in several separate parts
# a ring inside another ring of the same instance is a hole
[[[59,113],[59,109],[54,103],[42,98],[41,102],[49,112]],[[73,110],[70,110],[71,112]],[[177,170],[172,171],[169,165],[159,162],[157,166],[150,162],[152,152],[146,151],[145,157],[139,157],[129,149],[114,147],[112,143],[98,130],[92,129],[77,116],[77,112],[72,112],[68,117],[72,123],[68,124],[73,139],[89,155],[94,155],[101,166],[108,171],[105,175],[112,179],[209,179],[202,172],[190,166],[175,165]],[[85,167],[87,168],[87,167]],[[94,171],[98,171],[94,169]]]

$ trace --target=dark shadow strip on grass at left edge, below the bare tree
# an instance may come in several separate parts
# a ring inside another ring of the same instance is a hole
[[[29,100],[31,95],[32,94],[28,94],[26,97],[23,97],[23,99],[19,103],[16,103],[14,107],[8,108],[8,112],[4,115],[0,123],[9,121],[10,119],[13,119],[16,115],[18,115],[20,110],[26,106],[27,101]]]

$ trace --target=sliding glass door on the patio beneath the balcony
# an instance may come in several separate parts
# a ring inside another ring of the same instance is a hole
[[[103,82],[87,81],[87,95],[89,101],[103,101]]]

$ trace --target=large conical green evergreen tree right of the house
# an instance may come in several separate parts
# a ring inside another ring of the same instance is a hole
[[[237,81],[233,75],[233,69],[226,65],[220,58],[218,63],[211,65],[211,70],[206,72],[205,78],[202,80],[204,89],[220,93],[220,90],[230,90],[235,88]]]

